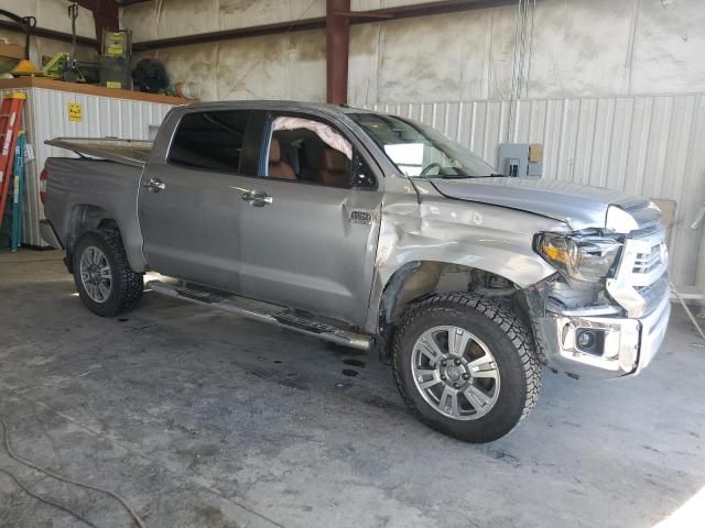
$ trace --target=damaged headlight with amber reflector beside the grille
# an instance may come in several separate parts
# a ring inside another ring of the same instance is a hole
[[[534,246],[566,278],[596,283],[611,276],[622,244],[597,234],[539,233]]]

